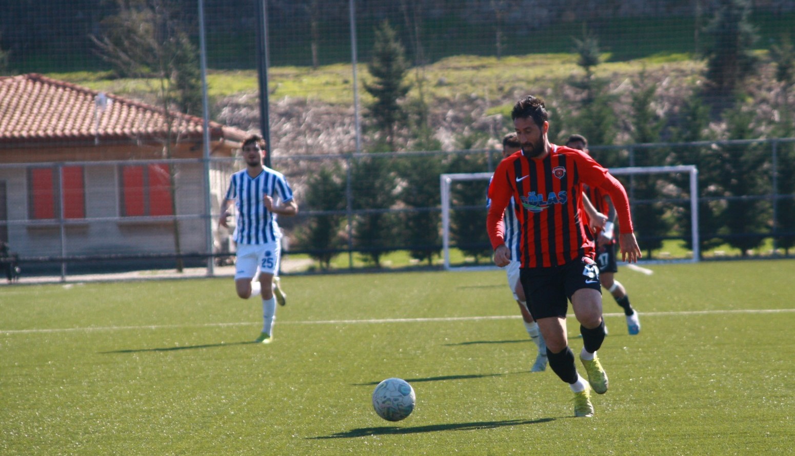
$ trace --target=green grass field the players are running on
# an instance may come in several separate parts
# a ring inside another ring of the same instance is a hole
[[[791,454],[795,261],[650,268],[618,275],[641,334],[605,299],[591,419],[500,271],[285,276],[269,346],[228,278],[2,287],[0,454]]]

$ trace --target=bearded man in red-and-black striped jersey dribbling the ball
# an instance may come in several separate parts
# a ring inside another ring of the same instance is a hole
[[[520,99],[511,118],[522,153],[502,160],[489,186],[487,232],[494,248],[494,264],[502,267],[510,263],[502,218],[513,197],[520,226],[520,280],[530,313],[547,344],[549,367],[575,393],[575,415],[592,416],[588,385],[603,394],[608,381],[596,357],[605,335],[602,294],[599,269],[593,260],[593,238],[580,213],[583,184],[611,195],[619,214],[622,259],[633,262],[641,251],[632,233],[629,201],[621,183],[588,154],[549,143],[549,113],[544,100],[532,95]],[[588,373],[587,382],[577,373],[566,338],[569,300],[583,335],[580,360]]]

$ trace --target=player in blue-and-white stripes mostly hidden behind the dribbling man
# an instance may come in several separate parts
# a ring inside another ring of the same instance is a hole
[[[508,133],[502,137],[502,158],[510,157],[511,154],[517,153],[522,150],[522,143],[516,133]],[[491,185],[491,180],[489,180]],[[486,199],[486,207],[491,205],[491,200]],[[527,308],[527,299],[525,298],[525,291],[522,289],[522,283],[519,281],[519,267],[522,263],[519,261],[519,221],[516,218],[516,207],[514,199],[510,199],[508,207],[506,207],[505,215],[503,218],[505,222],[505,245],[510,249],[510,263],[505,267],[508,276],[508,286],[510,291],[514,293],[514,299],[519,304],[519,310],[522,311],[522,320],[525,323],[525,330],[530,336],[530,339],[538,347],[538,354],[536,361],[533,362],[531,372],[541,372],[546,369],[547,354],[546,344],[544,338],[541,337],[541,332],[538,330],[538,323],[533,320],[530,311]]]

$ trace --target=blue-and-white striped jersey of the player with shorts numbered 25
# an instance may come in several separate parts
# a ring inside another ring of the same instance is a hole
[[[232,175],[226,199],[235,199],[238,209],[233,238],[238,244],[266,244],[281,238],[277,214],[265,208],[262,198],[268,195],[283,203],[293,199],[293,190],[281,172],[264,168],[259,176],[250,177],[245,169]]]

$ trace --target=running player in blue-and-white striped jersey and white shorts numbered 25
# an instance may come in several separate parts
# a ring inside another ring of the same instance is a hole
[[[231,177],[221,205],[219,225],[227,226],[227,207],[234,201],[237,208],[233,235],[237,243],[235,289],[242,299],[258,294],[262,296],[262,333],[254,342],[270,343],[276,315],[273,276],[279,270],[281,257],[281,230],[276,219],[280,214],[297,214],[298,205],[285,176],[262,166],[265,148],[265,141],[257,135],[243,141],[246,169],[235,172]],[[258,269],[259,280],[252,281]]]

